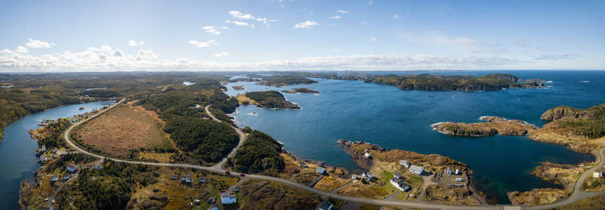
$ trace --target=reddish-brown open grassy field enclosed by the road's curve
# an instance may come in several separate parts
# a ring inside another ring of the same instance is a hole
[[[174,149],[162,120],[140,106],[120,105],[81,125],[75,133],[94,151],[127,158],[130,149]]]

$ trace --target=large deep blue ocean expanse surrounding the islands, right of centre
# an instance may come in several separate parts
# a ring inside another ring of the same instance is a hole
[[[483,75],[502,71],[447,74]],[[313,87],[320,94],[285,94],[300,110],[269,110],[241,106],[233,116],[240,127],[250,126],[281,141],[302,158],[357,169],[338,139],[365,141],[385,148],[446,155],[474,171],[479,190],[499,203],[506,193],[532,188],[560,188],[529,174],[539,162],[576,164],[592,161],[589,154],[564,146],[543,144],[527,137],[450,137],[431,129],[444,121],[481,122],[481,116],[501,116],[542,126],[544,111],[560,105],[588,108],[605,103],[605,71],[504,71],[520,78],[550,80],[544,89],[508,89],[486,92],[399,90],[362,81],[325,80],[312,85],[265,87],[229,83],[227,94],[245,91],[290,90]],[[243,85],[246,90],[233,90]],[[256,113],[252,115],[251,113]]]

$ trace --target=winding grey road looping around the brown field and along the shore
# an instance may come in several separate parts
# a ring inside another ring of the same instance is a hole
[[[72,148],[75,148],[76,151],[80,152],[80,153],[84,153],[86,155],[90,155],[92,157],[95,158],[106,158],[108,160],[113,160],[116,162],[128,162],[131,164],[142,164],[142,165],[153,165],[153,166],[159,166],[159,167],[180,167],[180,168],[184,168],[184,169],[199,169],[199,170],[204,170],[206,172],[213,172],[213,173],[218,173],[218,174],[224,174],[225,169],[223,169],[222,165],[225,163],[225,161],[227,160],[227,158],[223,159],[221,162],[219,162],[218,164],[212,166],[212,167],[204,167],[204,166],[199,166],[199,165],[189,165],[189,164],[172,164],[172,163],[159,163],[159,162],[141,162],[141,161],[131,161],[131,160],[122,160],[122,159],[118,159],[118,158],[109,158],[109,157],[105,157],[102,155],[97,155],[94,153],[90,153],[88,151],[83,150],[82,148],[76,146],[76,144],[73,144],[73,142],[71,141],[71,139],[69,139],[69,133],[71,132],[71,130],[74,127],[77,127],[78,125],[86,122],[87,120],[90,120],[94,117],[99,116],[101,113],[104,113],[105,111],[108,111],[109,109],[112,109],[113,107],[117,106],[118,104],[124,102],[125,99],[120,100],[120,102],[117,102],[115,104],[113,104],[113,106],[108,107],[107,109],[104,109],[102,111],[99,111],[99,113],[95,114],[94,116],[90,116],[89,118],[85,119],[85,120],[81,120],[78,123],[75,123],[73,125],[71,125],[71,127],[69,127],[65,133],[64,133],[64,139],[66,141],[66,143],[71,146]],[[205,107],[206,109],[206,113],[208,113],[208,116],[211,116],[211,118],[213,120],[218,120],[217,118],[215,118],[210,111],[208,111],[208,106]],[[236,152],[237,148],[239,148],[239,146],[241,146],[243,144],[243,141],[245,139],[245,136],[243,134],[243,132],[241,132],[241,130],[239,130],[239,128],[234,127],[234,130],[236,130],[236,132],[239,134],[240,137],[240,142],[238,147],[234,148],[234,150],[229,153],[229,155],[232,155]],[[576,202],[578,200],[581,200],[583,198],[586,197],[592,197],[595,195],[602,195],[605,193],[605,191],[601,191],[601,192],[595,192],[595,193],[588,193],[588,192],[584,192],[581,189],[582,183],[585,181],[585,179],[592,175],[592,172],[597,169],[597,168],[602,168],[603,164],[604,164],[604,155],[603,155],[603,151],[605,151],[605,148],[601,149],[598,152],[597,157],[599,157],[599,163],[595,166],[592,167],[591,169],[586,170],[581,176],[580,179],[578,179],[578,181],[576,182],[576,185],[574,186],[574,193],[571,194],[570,197],[568,197],[566,200],[563,200],[561,202],[556,202],[554,204],[546,204],[546,205],[541,205],[541,206],[535,206],[535,207],[521,207],[522,209],[552,209],[555,207],[560,207],[566,204],[571,204],[572,202]],[[239,176],[239,174],[236,173],[232,173],[229,176]],[[304,190],[307,190],[308,192],[311,193],[315,193],[317,195],[320,195],[322,197],[332,197],[336,200],[346,200],[349,202],[360,202],[360,203],[364,203],[364,204],[373,204],[373,205],[377,205],[377,206],[399,206],[399,207],[415,207],[415,208],[422,208],[422,209],[508,209],[509,207],[513,207],[511,205],[483,205],[483,206],[453,206],[453,205],[448,205],[448,204],[438,204],[438,203],[432,203],[432,202],[422,202],[422,201],[399,201],[399,200],[376,200],[376,199],[370,199],[370,198],[364,198],[364,197],[351,197],[351,196],[346,196],[346,195],[339,195],[336,193],[331,193],[331,192],[327,192],[327,191],[322,191],[322,190],[318,190],[315,188],[311,188],[308,186],[305,186],[301,183],[297,183],[291,180],[287,180],[287,179],[280,179],[277,177],[273,177],[273,176],[263,176],[263,175],[258,175],[258,174],[247,174],[246,177],[250,178],[250,179],[262,179],[262,180],[266,180],[266,181],[276,181],[278,183],[283,183],[286,184],[288,186],[293,186],[296,188],[301,188]],[[519,206],[514,206],[514,207],[519,207]]]

